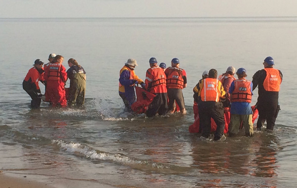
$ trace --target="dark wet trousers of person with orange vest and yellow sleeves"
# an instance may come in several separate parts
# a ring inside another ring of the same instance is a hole
[[[216,124],[214,140],[219,140],[225,129],[224,107],[222,103],[214,101],[199,102],[198,109],[202,137],[208,138],[210,136],[212,118]]]

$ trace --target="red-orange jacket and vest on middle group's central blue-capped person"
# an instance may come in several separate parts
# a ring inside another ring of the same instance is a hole
[[[166,75],[163,71],[162,68],[156,66],[152,67],[147,70],[148,72],[151,73],[153,80],[148,79],[151,81],[152,86],[150,88],[151,93],[167,93],[167,88],[166,88]]]

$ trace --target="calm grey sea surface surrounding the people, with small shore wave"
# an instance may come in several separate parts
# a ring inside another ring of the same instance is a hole
[[[0,170],[56,187],[295,187],[296,17],[0,19],[0,28]],[[85,109],[29,108],[23,79],[50,53],[86,70]],[[135,58],[144,80],[152,56],[180,59],[187,115],[122,113],[119,70]],[[251,80],[266,56],[283,73],[275,130],[220,142],[190,134],[202,72],[243,67]]]

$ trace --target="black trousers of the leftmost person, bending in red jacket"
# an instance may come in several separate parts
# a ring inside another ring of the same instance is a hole
[[[36,89],[34,83],[29,83],[24,81],[23,82],[23,89],[30,95],[31,101],[31,108],[39,108],[41,103],[41,91],[40,89]]]

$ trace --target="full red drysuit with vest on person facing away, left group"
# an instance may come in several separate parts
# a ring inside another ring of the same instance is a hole
[[[46,83],[46,97],[52,103],[53,107],[67,106],[65,98],[65,82],[67,80],[67,73],[64,66],[58,62],[50,63],[45,72]]]

